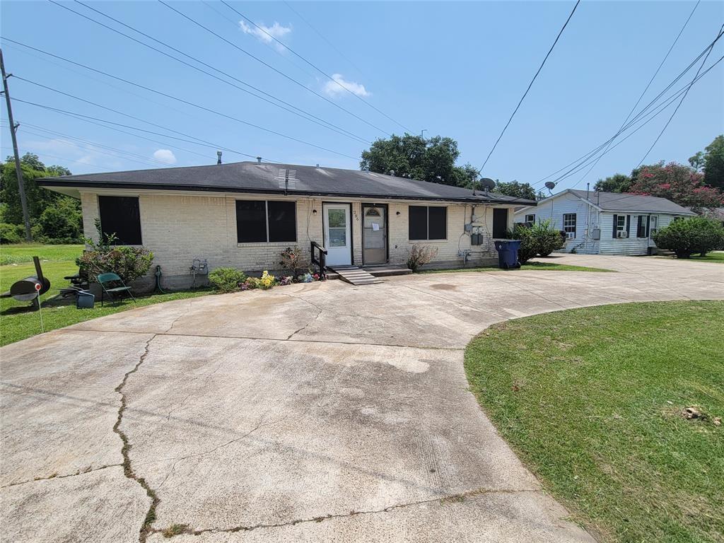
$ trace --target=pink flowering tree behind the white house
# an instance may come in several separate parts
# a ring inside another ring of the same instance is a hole
[[[704,185],[704,174],[677,162],[642,166],[633,177],[630,193],[668,198],[694,211],[724,206],[724,193]]]

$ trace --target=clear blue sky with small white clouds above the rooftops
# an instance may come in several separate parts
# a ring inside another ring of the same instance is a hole
[[[413,133],[425,129],[426,136],[439,134],[458,140],[460,164],[469,161],[478,167],[573,7],[573,1],[230,2],[327,75],[340,77],[358,96],[395,119],[393,122],[290,51],[268,43],[268,36],[251,23],[240,24],[242,17],[221,2],[169,4],[300,85],[158,1],[88,2],[90,7],[362,140],[400,134],[405,130],[402,126]],[[68,2],[64,6],[153,43],[80,4]],[[610,138],[693,7],[694,2],[678,1],[582,1],[482,174],[506,181],[539,182]],[[254,98],[49,1],[4,1],[1,10],[3,38],[317,146],[154,95],[4,40],[5,62],[14,75],[143,119],[129,119],[11,78],[14,114],[22,125],[20,151],[37,153],[48,164],[64,164],[74,173],[213,164],[216,146],[224,146],[292,164],[357,168],[358,157],[368,146]],[[699,4],[642,104],[656,96],[715,38],[723,22],[723,2]],[[723,42],[717,43],[707,66],[724,54]],[[692,77],[694,70],[673,89],[689,83]],[[724,132],[723,96],[724,62],[691,88],[647,162],[686,162]],[[161,135],[115,125],[130,132],[121,133],[20,100]],[[7,119],[4,108],[2,111],[1,117]],[[670,111],[673,108],[604,156],[580,186],[615,172],[630,172]],[[192,136],[192,141],[172,139],[188,139],[178,132]],[[7,122],[1,127],[1,145],[4,155],[12,152]],[[240,160],[248,157],[224,151],[224,161]],[[560,188],[573,185],[582,175],[569,177]]]

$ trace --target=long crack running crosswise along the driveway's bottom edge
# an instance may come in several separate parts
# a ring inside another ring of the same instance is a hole
[[[293,521],[286,521],[286,522],[279,522],[279,523],[258,523],[258,524],[251,524],[251,525],[239,525],[239,526],[232,526],[231,528],[204,528],[199,530],[194,530],[190,528],[188,525],[182,525],[183,529],[177,531],[177,533],[174,533],[174,535],[190,535],[190,536],[200,536],[203,534],[233,534],[235,532],[239,531],[253,531],[258,529],[269,529],[269,528],[283,528],[285,526],[296,526],[297,524],[303,524],[303,523],[311,523],[311,522],[324,522],[329,521],[333,518],[350,518],[358,515],[377,515],[379,513],[390,513],[390,511],[396,510],[396,509],[403,509],[408,507],[414,507],[416,505],[425,505],[427,503],[434,503],[434,502],[440,502],[441,505],[445,505],[446,503],[458,503],[463,502],[468,497],[476,497],[480,496],[482,494],[520,494],[523,492],[541,492],[540,489],[474,489],[474,490],[468,490],[467,492],[459,492],[458,494],[450,494],[446,496],[439,496],[434,498],[428,498],[426,500],[418,500],[415,502],[405,502],[405,503],[397,503],[395,505],[389,505],[386,508],[382,509],[372,509],[372,510],[361,510],[361,511],[355,511],[351,510],[349,513],[328,513],[327,515],[320,515],[313,518],[297,518]],[[164,530],[160,529],[152,529],[151,530],[154,534],[164,533]],[[167,534],[164,534],[165,537],[172,537]]]

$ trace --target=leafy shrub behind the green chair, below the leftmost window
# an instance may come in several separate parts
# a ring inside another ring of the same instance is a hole
[[[80,268],[80,274],[83,277],[93,279],[98,274],[112,271],[114,274],[118,274],[125,283],[146,275],[152,262],[153,253],[148,249],[125,245],[107,250],[96,248],[84,251],[75,259],[75,264]]]

